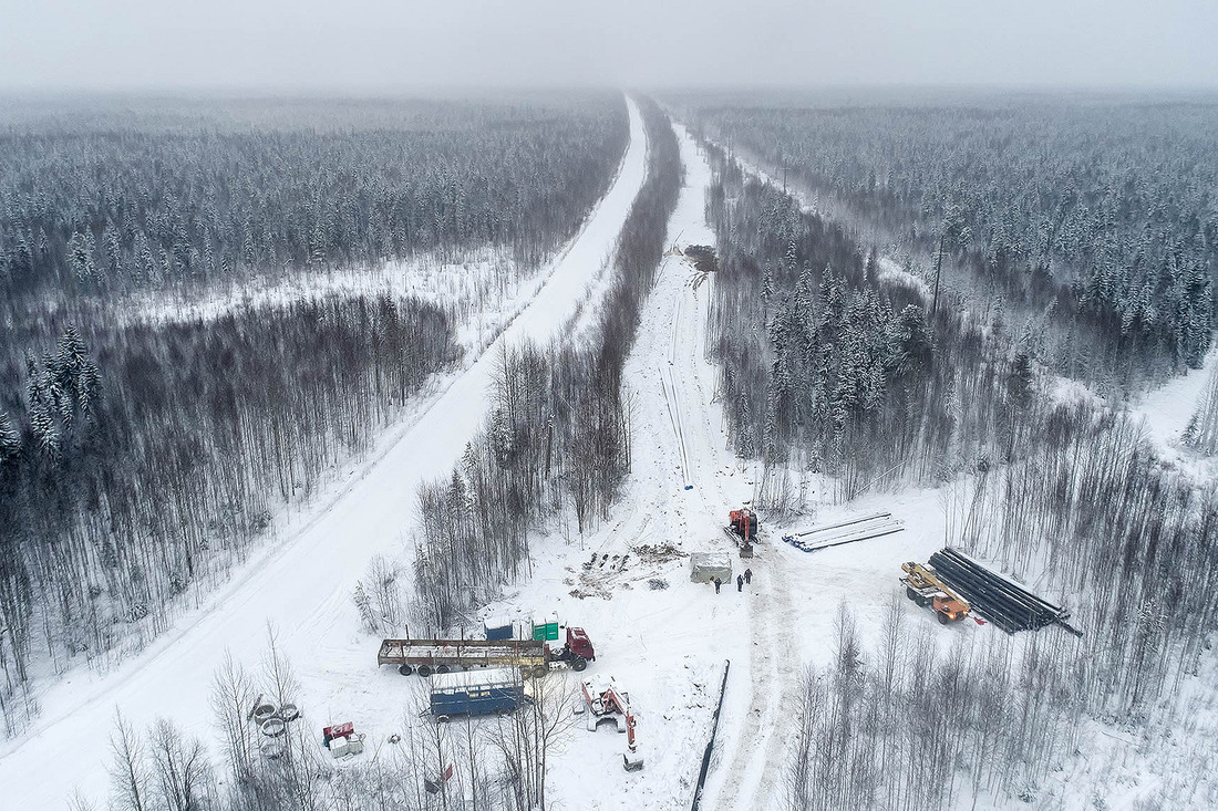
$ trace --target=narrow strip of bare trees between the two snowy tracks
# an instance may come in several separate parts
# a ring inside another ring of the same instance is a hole
[[[665,114],[641,101],[647,180],[619,237],[614,283],[581,346],[504,353],[485,429],[449,479],[425,485],[417,538],[417,621],[442,632],[527,572],[529,532],[570,510],[579,531],[608,515],[630,470],[622,368],[663,258],[683,183]]]

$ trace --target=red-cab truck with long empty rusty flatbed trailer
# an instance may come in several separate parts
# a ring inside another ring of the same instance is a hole
[[[525,676],[543,676],[552,666],[583,670],[596,659],[582,628],[566,630],[566,644],[554,650],[541,639],[385,639],[378,665],[396,665],[400,673],[430,676],[475,667],[519,667]]]

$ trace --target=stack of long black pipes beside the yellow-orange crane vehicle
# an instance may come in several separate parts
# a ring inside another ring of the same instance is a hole
[[[995,575],[955,549],[935,552],[931,555],[931,566],[943,582],[968,600],[974,613],[1007,633],[1060,625],[1075,636],[1083,636],[1066,622],[1069,611]]]

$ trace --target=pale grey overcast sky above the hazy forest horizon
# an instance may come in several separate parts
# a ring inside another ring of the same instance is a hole
[[[0,88],[1218,86],[1214,0],[0,0]]]

